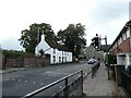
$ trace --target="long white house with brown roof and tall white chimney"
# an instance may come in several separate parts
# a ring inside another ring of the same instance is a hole
[[[45,54],[50,56],[50,64],[72,62],[72,52],[56,40],[45,38],[45,35],[41,35],[41,41],[36,47],[35,54],[40,56],[41,49]]]

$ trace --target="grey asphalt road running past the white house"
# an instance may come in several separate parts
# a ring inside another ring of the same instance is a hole
[[[86,74],[90,71],[90,65],[86,62],[80,62],[3,74],[2,96],[24,96],[80,70]]]

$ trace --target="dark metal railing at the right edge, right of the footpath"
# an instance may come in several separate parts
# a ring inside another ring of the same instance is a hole
[[[121,70],[121,86],[126,94],[131,98],[131,75]]]

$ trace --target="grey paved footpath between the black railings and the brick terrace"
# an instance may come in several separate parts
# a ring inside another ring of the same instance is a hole
[[[92,78],[92,74],[90,74],[84,79],[83,91],[86,96],[123,98],[124,95],[117,87],[115,81],[108,79],[107,68],[104,63],[100,64],[95,75]]]

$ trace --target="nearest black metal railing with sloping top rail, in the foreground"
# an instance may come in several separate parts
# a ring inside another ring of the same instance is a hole
[[[78,78],[69,83],[69,78],[76,74],[80,74],[78,75]],[[73,74],[70,74],[69,76],[66,76],[33,93],[29,93],[23,96],[22,98],[31,98],[31,97],[39,96],[40,93],[53,87],[55,85],[61,82],[64,82],[64,86],[61,89],[59,89],[57,93],[55,93],[53,95],[48,95],[48,96],[50,96],[51,98],[59,98],[60,96],[64,96],[66,98],[69,98],[69,96],[82,96],[83,94],[83,71],[78,71]]]

